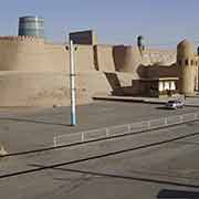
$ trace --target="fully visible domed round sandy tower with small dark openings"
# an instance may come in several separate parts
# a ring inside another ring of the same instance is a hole
[[[177,65],[179,69],[179,92],[186,96],[193,95],[196,90],[195,45],[188,40],[177,45]]]

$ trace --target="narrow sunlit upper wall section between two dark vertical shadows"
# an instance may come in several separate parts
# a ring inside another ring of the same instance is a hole
[[[112,45],[95,45],[94,46],[95,69],[98,71],[115,71]]]

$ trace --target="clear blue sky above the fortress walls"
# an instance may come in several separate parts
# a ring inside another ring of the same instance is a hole
[[[199,0],[1,0],[0,34],[15,35],[22,15],[45,18],[53,41],[93,29],[100,43],[134,44],[142,34],[154,46],[185,38],[199,44]]]

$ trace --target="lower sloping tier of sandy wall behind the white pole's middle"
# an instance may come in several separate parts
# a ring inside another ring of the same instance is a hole
[[[0,106],[70,105],[69,81],[69,73],[0,72]],[[95,93],[109,91],[103,73],[77,73],[77,104],[91,103]]]

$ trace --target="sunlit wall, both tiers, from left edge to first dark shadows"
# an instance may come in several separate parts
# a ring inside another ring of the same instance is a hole
[[[64,45],[35,38],[0,38],[0,106],[69,105],[69,54]],[[75,71],[78,104],[112,91],[94,67],[92,45],[77,45]]]

